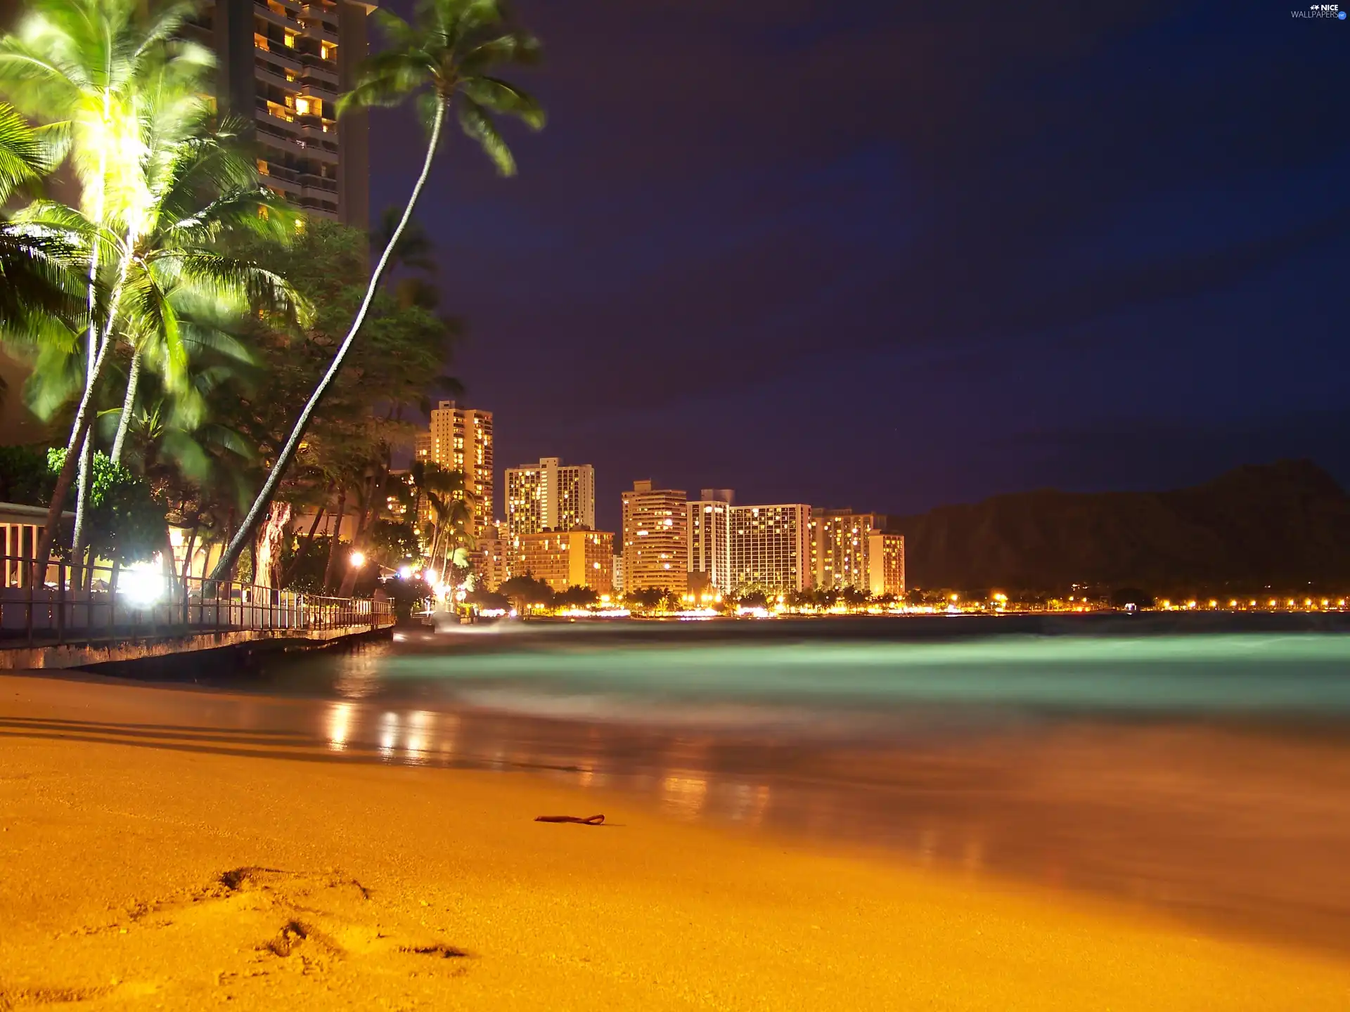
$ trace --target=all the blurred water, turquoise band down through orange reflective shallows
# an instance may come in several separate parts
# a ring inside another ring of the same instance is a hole
[[[274,677],[335,696],[315,730],[344,758],[532,772],[1350,953],[1350,637],[524,638]]]

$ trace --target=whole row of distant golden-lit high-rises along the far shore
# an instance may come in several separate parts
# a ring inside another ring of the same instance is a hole
[[[493,412],[441,401],[428,430],[416,433],[413,455],[450,467],[490,461],[493,439]],[[620,494],[620,522],[608,529],[595,519],[591,464],[552,456],[504,468],[505,518],[491,498],[495,478],[485,480],[483,472],[479,467],[474,480],[474,488],[486,488],[475,501],[475,515],[486,519],[478,519],[473,568],[489,590],[525,573],[559,591],[574,586],[568,579],[598,592],[655,587],[679,595],[906,590],[905,538],[882,513],[805,502],[737,505],[729,487],[705,487],[690,498],[639,479]]]

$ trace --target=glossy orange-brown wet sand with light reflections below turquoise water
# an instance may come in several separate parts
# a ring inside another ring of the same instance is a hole
[[[313,703],[329,749],[533,770],[680,819],[1030,880],[1350,953],[1350,748],[1320,729],[1069,722],[903,748]]]

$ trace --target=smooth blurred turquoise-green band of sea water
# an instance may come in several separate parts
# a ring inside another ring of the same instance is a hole
[[[452,640],[452,637],[451,637]],[[501,637],[506,640],[506,637]],[[913,706],[1103,712],[1350,714],[1350,636],[998,636],[905,642],[756,638],[687,645],[566,640],[366,658],[356,695],[443,698],[559,716],[742,716]],[[374,679],[375,684],[371,684]],[[342,685],[339,685],[342,690]]]

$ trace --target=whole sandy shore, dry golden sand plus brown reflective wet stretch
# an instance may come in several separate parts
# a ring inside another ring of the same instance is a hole
[[[1338,749],[1119,730],[813,754],[5,676],[0,1007],[1347,1007]],[[1234,915],[1272,897],[1282,939]]]

